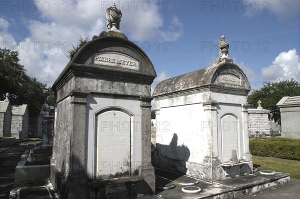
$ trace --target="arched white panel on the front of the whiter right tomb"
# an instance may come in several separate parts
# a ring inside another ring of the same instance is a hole
[[[221,117],[221,143],[222,143],[222,162],[231,159],[231,150],[238,150],[238,119],[233,114],[225,114]]]

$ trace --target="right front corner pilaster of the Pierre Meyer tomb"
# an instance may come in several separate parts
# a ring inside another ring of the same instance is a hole
[[[140,96],[141,107],[141,164],[139,175],[155,192],[154,167],[151,164],[151,100],[152,97]]]

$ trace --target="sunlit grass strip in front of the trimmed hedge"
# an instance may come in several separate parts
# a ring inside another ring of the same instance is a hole
[[[252,155],[252,160],[253,166],[260,170],[284,172],[291,177],[300,178],[300,161],[255,155]]]

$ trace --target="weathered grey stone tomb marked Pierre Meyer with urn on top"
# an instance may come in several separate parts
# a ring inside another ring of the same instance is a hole
[[[106,10],[107,32],[94,36],[56,79],[50,180],[62,198],[152,194],[151,83],[148,56]]]

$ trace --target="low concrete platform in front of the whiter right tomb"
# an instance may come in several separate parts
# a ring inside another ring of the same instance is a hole
[[[169,178],[169,180],[172,179],[173,181],[176,180],[173,178],[175,175],[177,175],[180,179],[190,180],[188,178],[191,178],[179,173],[173,173],[174,172],[172,171],[155,168],[155,175],[159,180],[161,180],[159,175],[163,175],[165,178]],[[164,189],[163,191],[159,191],[156,185],[156,195],[151,198],[241,198],[288,183],[289,174],[287,173],[274,172],[273,175],[264,175],[259,172],[254,172],[253,174],[244,176],[225,178],[213,183],[198,180],[197,184],[192,185],[194,187],[201,188],[201,191],[198,193],[184,193],[181,190],[182,186],[176,186],[173,189]]]

